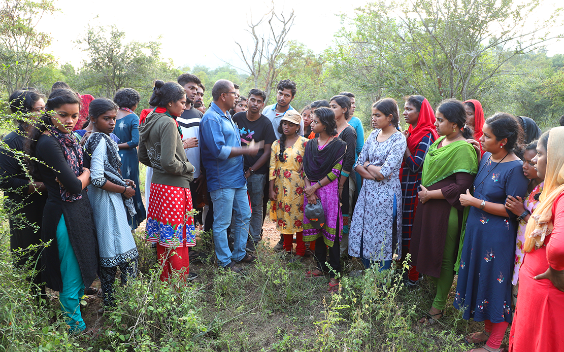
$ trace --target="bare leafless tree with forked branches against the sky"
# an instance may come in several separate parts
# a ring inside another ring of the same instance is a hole
[[[235,42],[239,46],[241,56],[245,62],[246,69],[244,71],[253,78],[255,88],[262,88],[266,92],[266,96],[270,96],[272,86],[280,73],[284,63],[280,62],[279,57],[287,43],[287,35],[294,24],[294,10],[289,15],[276,13],[274,2],[272,7],[259,21],[253,23],[252,19],[247,22],[247,32],[253,39],[253,46],[244,50],[239,42]],[[262,26],[268,23],[266,34],[258,34]]]

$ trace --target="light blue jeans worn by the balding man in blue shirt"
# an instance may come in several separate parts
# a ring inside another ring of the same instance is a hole
[[[225,267],[231,264],[231,260],[240,261],[245,255],[245,246],[249,237],[250,207],[249,198],[246,194],[246,186],[241,188],[223,188],[210,192],[213,210],[213,242],[215,255],[219,265]],[[227,228],[231,224],[233,214],[234,231],[231,237],[233,253],[227,242]]]

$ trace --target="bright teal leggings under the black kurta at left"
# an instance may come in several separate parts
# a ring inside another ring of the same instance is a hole
[[[81,332],[86,329],[80,313],[80,297],[84,293],[84,282],[74,249],[70,244],[63,215],[57,225],[57,248],[59,249],[61,279],[63,279],[63,291],[59,293],[61,310],[67,315],[66,320],[70,332]]]

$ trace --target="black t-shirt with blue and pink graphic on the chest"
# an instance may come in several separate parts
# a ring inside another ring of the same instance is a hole
[[[233,115],[233,122],[239,127],[241,146],[249,145],[252,140],[257,143],[264,141],[264,144],[272,144],[272,142],[276,140],[272,122],[263,114],[261,114],[261,117],[256,121],[249,121],[246,118],[246,112],[236,113]],[[249,167],[253,166],[264,152],[265,150],[261,148],[255,156],[243,155],[245,171],[249,170]],[[268,159],[263,166],[259,167],[258,170],[254,170],[254,173],[263,175],[268,172],[269,167],[270,159]]]

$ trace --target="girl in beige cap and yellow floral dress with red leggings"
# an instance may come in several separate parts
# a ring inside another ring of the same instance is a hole
[[[276,229],[284,237],[284,251],[291,256],[294,233],[296,256],[290,262],[301,260],[306,252],[302,240],[303,222],[303,152],[308,139],[301,136],[301,115],[288,110],[280,120],[280,139],[272,143],[270,152],[269,198],[276,214]]]

